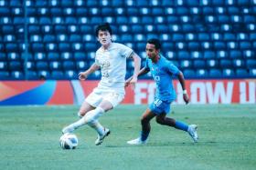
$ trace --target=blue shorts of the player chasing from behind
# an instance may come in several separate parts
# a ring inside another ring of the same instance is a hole
[[[149,108],[155,115],[169,114],[171,110],[171,102],[155,99],[155,101],[149,105]]]

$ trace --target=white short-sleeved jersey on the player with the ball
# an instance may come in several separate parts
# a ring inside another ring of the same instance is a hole
[[[101,66],[101,82],[98,87],[124,93],[126,58],[132,53],[131,48],[119,43],[112,43],[108,49],[99,48],[95,56],[95,64]]]

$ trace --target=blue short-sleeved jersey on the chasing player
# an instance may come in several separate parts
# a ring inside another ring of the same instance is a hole
[[[173,65],[163,55],[157,63],[146,58],[145,67],[150,70],[156,84],[155,98],[165,102],[171,102],[176,99],[176,91],[173,85],[173,75],[179,74],[179,69]]]

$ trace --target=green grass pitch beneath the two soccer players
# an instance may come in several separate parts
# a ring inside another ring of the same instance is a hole
[[[79,147],[62,150],[60,131],[77,120],[78,106],[0,107],[1,169],[255,169],[255,105],[173,105],[174,118],[198,125],[200,140],[152,121],[147,145],[126,141],[140,132],[146,105],[121,105],[101,117],[112,130],[94,145],[88,126],[76,131]]]

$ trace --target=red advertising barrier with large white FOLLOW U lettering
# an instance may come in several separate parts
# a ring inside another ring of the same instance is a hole
[[[98,81],[0,81],[0,105],[80,105]],[[184,104],[181,85],[175,80],[175,104]],[[191,104],[255,104],[256,79],[187,80]],[[123,104],[153,102],[155,83],[140,80],[126,88]]]

